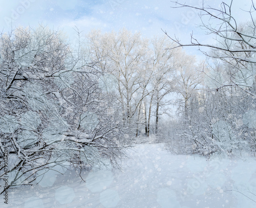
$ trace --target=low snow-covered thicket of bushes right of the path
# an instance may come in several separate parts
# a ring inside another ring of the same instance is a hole
[[[190,100],[188,123],[181,117],[176,128],[173,140],[179,141],[178,152],[207,156],[253,153],[256,150],[254,99],[231,87],[225,91],[205,91],[200,96]]]

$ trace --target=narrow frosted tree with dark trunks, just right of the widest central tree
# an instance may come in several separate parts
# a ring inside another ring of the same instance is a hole
[[[172,100],[167,98],[167,96],[175,90],[175,62],[176,58],[179,56],[180,50],[166,50],[173,47],[173,42],[169,41],[167,37],[155,37],[151,40],[152,44],[152,56],[151,56],[151,65],[152,67],[152,77],[151,77],[151,102],[150,109],[152,104],[155,105],[155,133],[158,132],[158,124],[160,115],[164,112],[167,113],[165,106],[169,106]],[[154,99],[154,103],[152,103]],[[163,109],[161,109],[163,108]],[[147,132],[150,132],[150,116],[151,113],[148,113],[148,129]],[[147,136],[148,136],[147,133]]]

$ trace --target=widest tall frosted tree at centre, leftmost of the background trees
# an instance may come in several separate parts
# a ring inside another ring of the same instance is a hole
[[[121,106],[123,125],[130,131],[136,122],[137,109],[141,102],[141,89],[144,56],[147,41],[140,33],[132,34],[125,29],[119,33],[92,31],[88,35],[91,57],[99,62],[106,73],[115,77],[113,85],[118,91],[117,99]]]

